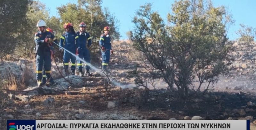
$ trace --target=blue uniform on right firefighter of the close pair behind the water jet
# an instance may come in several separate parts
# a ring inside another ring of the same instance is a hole
[[[91,62],[90,51],[87,49],[87,47],[89,48],[92,45],[92,37],[90,37],[90,34],[87,32],[78,31],[76,32],[76,34],[79,36],[78,40],[81,48],[78,52],[78,56],[81,59],[84,59],[87,63],[90,63]],[[86,47],[86,43],[87,43],[87,47]],[[83,62],[77,59],[77,66],[80,72],[83,69],[82,65],[83,65]],[[89,70],[90,66],[85,64],[85,69]]]

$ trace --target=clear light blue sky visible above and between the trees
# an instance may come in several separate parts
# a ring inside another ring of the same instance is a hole
[[[59,16],[57,7],[67,3],[77,3],[77,0],[39,0],[46,5],[50,16]],[[152,3],[152,9],[158,11],[160,16],[166,20],[167,14],[171,13],[174,0],[102,0],[102,7],[109,11],[119,20],[119,32],[121,39],[127,39],[126,32],[132,30],[134,24],[132,18],[140,5]],[[236,31],[240,24],[256,27],[256,0],[212,0],[213,5],[224,5],[232,14],[235,23],[228,30],[229,40],[236,40],[239,36]],[[72,21],[71,21],[72,23]]]

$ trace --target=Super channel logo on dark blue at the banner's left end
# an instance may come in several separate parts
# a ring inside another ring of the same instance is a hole
[[[7,120],[7,130],[36,130],[36,120]]]

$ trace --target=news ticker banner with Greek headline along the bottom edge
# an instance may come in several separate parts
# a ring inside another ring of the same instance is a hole
[[[7,120],[7,130],[250,130],[250,120]]]

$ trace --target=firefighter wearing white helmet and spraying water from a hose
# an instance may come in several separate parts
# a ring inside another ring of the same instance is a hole
[[[36,24],[38,31],[35,34],[35,42],[36,42],[36,79],[37,85],[42,85],[42,70],[43,66],[45,69],[45,75],[47,80],[51,78],[51,48],[52,48],[52,41],[54,35],[51,32],[46,31],[46,23],[44,20],[39,20]],[[54,42],[57,42],[55,40]],[[54,81],[50,80],[47,86],[54,85]]]

